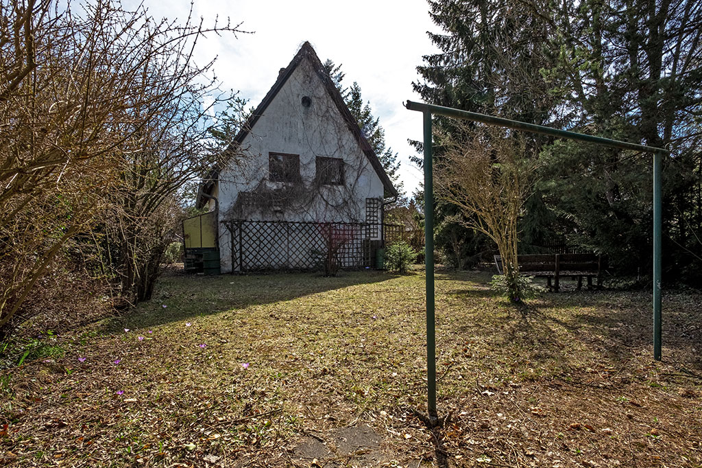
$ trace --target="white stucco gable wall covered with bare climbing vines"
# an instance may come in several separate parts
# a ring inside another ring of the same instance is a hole
[[[302,105],[309,96],[311,105]],[[383,183],[359,147],[352,132],[338,112],[322,81],[306,58],[273,98],[248,136],[242,148],[245,157],[220,171],[216,196],[223,219],[281,221],[366,221],[366,198],[383,198]],[[306,187],[313,185],[316,158],[336,157],[344,160],[343,186],[316,186],[314,197],[292,206],[233,212],[239,193],[249,192],[260,183],[268,188],[282,188],[283,183],[268,178],[269,152],[300,155],[300,176]],[[213,209],[213,203],[209,205]],[[232,271],[230,233],[220,223],[220,259],[224,273]]]

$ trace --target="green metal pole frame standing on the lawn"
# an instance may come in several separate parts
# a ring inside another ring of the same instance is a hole
[[[433,188],[433,155],[432,155],[432,115],[444,115],[456,119],[472,120],[494,126],[506,126],[510,129],[531,131],[537,134],[567,138],[569,140],[584,141],[597,145],[620,148],[623,150],[636,150],[654,153],[654,359],[661,360],[661,163],[663,157],[670,155],[670,151],[663,148],[628,143],[626,141],[578,134],[574,131],[552,129],[548,126],[519,122],[518,120],[494,117],[491,115],[469,112],[467,110],[446,108],[440,105],[415,103],[408,100],[405,107],[423,113],[424,128],[424,238],[426,271],[426,314],[427,314],[427,409],[430,424],[438,422],[437,396],[436,396],[436,327],[435,327],[435,294],[434,294],[434,188]]]

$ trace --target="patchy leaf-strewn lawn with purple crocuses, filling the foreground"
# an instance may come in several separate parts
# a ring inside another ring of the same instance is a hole
[[[171,275],[125,315],[0,373],[0,464],[701,467],[702,294],[543,294],[437,273],[439,429],[424,277]]]

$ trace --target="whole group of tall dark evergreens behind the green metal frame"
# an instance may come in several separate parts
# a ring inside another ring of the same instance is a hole
[[[664,268],[675,265],[671,273],[699,278],[702,4],[436,0],[429,6],[442,33],[430,34],[441,52],[424,57],[423,81],[414,84],[426,102],[673,149],[663,171]],[[435,118],[439,134],[453,132],[453,125]],[[522,219],[523,244],[567,240],[607,254],[621,271],[645,273],[650,156],[550,138],[535,138],[534,145],[545,145],[542,182]],[[436,136],[435,147],[440,158]],[[439,216],[451,212],[438,209]]]

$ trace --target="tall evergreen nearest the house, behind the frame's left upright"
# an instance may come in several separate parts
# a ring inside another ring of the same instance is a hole
[[[552,53],[544,42],[549,27],[545,19],[516,0],[437,0],[429,1],[429,6],[442,32],[428,33],[439,53],[423,58],[423,65],[417,67],[422,79],[413,83],[425,102],[548,123],[553,98],[539,73],[551,63]],[[460,124],[435,116],[434,127],[435,161],[440,162],[442,135],[460,134]],[[548,142],[538,136],[528,138],[532,148]],[[420,149],[420,144],[416,146]],[[420,157],[412,160],[420,167],[423,164]],[[490,252],[484,235],[464,227],[469,223],[461,219],[461,210],[442,200],[435,206],[436,245],[446,259],[461,266],[469,256]],[[538,221],[529,223],[545,231]]]

